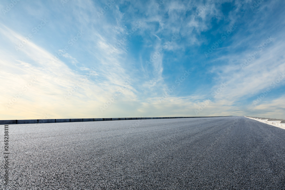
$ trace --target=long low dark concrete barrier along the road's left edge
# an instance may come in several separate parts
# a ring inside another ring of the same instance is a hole
[[[230,116],[208,116],[230,117]],[[0,125],[9,124],[34,124],[34,123],[62,123],[62,122],[90,122],[111,120],[135,120],[135,119],[174,119],[174,118],[200,118],[200,117],[123,117],[123,118],[90,118],[90,119],[24,119],[24,120],[0,120]]]

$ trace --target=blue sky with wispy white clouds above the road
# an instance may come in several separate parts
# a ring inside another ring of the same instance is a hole
[[[285,119],[285,1],[0,2],[0,119]]]

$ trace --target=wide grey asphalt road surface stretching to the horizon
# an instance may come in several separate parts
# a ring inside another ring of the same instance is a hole
[[[245,117],[9,125],[7,187],[1,152],[0,189],[285,189],[285,130]]]

